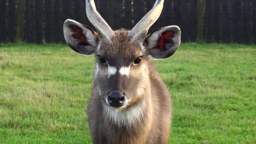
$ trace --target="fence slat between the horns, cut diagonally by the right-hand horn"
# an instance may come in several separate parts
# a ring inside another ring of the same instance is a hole
[[[145,5],[144,5],[144,0],[134,0],[133,1],[133,19],[134,19],[134,24],[137,24],[142,17],[145,15]]]

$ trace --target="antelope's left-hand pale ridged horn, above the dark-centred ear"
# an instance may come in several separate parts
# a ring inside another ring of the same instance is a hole
[[[114,31],[109,27],[107,22],[101,17],[101,15],[96,10],[94,0],[85,0],[86,1],[86,15],[89,21],[97,29],[99,37],[111,39],[115,36]]]

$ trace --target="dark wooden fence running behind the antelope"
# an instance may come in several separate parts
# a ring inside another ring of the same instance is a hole
[[[95,0],[112,29],[131,29],[155,0]],[[0,43],[64,43],[62,24],[92,27],[85,0],[0,0]],[[182,42],[256,43],[256,0],[165,0],[151,27],[178,25]]]

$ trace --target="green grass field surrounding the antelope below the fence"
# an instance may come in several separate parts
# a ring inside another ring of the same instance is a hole
[[[182,44],[155,61],[171,93],[170,143],[256,143],[256,45]],[[93,57],[0,45],[0,143],[91,143]]]

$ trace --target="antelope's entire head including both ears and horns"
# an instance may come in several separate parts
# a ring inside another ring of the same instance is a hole
[[[178,26],[147,32],[160,16],[164,0],[155,5],[131,30],[113,31],[96,11],[93,0],[86,0],[86,14],[97,32],[67,19],[64,38],[77,53],[95,55],[94,85],[104,104],[125,107],[145,96],[149,83],[149,57],[172,56],[181,41]]]

